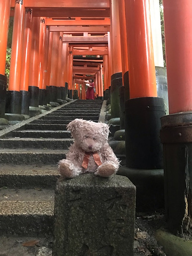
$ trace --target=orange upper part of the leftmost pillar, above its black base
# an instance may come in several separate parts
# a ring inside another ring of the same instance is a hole
[[[7,34],[9,30],[11,0],[0,1],[0,74],[5,75]]]

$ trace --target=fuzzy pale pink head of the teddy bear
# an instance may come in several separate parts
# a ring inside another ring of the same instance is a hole
[[[76,146],[86,152],[99,151],[108,141],[109,126],[105,123],[75,119],[67,125],[67,130],[75,139]]]

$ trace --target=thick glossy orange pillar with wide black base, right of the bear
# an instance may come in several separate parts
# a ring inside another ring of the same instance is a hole
[[[145,198],[149,197],[151,208],[153,204],[163,207],[163,196],[159,198],[163,194],[163,149],[159,132],[165,108],[163,99],[157,98],[149,0],[125,0],[125,14],[130,78],[130,99],[125,101],[125,173],[132,182],[136,179],[140,188],[137,207],[145,209]],[[157,169],[161,181],[156,179]],[[143,179],[143,173],[148,179]],[[148,189],[149,181],[158,188],[153,191],[153,197]],[[162,182],[160,188],[159,182]]]

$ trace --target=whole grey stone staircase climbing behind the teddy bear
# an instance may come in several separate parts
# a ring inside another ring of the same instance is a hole
[[[57,164],[73,143],[66,125],[98,122],[103,108],[101,100],[74,100],[0,131],[0,235],[52,234]]]

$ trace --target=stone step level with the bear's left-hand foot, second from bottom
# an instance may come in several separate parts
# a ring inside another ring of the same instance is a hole
[[[0,188],[55,188],[58,165],[1,164]]]

